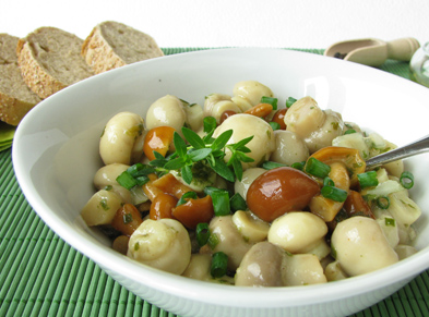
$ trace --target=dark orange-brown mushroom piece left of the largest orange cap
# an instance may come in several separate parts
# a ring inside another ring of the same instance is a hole
[[[214,217],[212,197],[190,198],[172,210],[172,217],[188,229],[195,229],[200,222],[210,222]]]

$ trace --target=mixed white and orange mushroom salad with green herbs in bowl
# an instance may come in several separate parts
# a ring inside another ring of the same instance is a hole
[[[413,174],[366,159],[395,146],[309,97],[281,107],[239,82],[204,106],[167,95],[99,142],[87,225],[139,263],[242,286],[324,283],[416,252]]]

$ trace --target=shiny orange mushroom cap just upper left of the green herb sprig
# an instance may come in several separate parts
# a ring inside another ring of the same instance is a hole
[[[155,159],[154,150],[165,157],[172,146],[172,135],[175,131],[176,130],[171,126],[157,126],[151,129],[144,138],[144,155],[151,161]]]

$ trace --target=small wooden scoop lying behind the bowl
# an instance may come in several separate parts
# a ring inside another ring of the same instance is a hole
[[[413,37],[391,41],[362,38],[336,42],[325,50],[324,56],[369,66],[380,66],[386,59],[408,62],[419,47],[420,44]]]

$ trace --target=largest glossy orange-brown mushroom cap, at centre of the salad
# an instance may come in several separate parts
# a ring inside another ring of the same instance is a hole
[[[249,186],[249,209],[271,222],[289,211],[302,210],[320,192],[319,184],[306,173],[289,167],[269,170]]]

